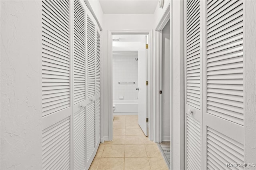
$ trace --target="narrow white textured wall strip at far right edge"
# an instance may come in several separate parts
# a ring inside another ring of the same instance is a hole
[[[244,0],[244,159],[256,163],[256,1]],[[245,168],[254,169],[254,168]]]

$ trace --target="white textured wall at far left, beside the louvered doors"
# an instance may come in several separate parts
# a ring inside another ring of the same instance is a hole
[[[0,3],[1,169],[42,169],[42,4]]]

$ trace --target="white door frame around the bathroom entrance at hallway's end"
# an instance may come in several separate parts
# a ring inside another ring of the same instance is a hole
[[[113,140],[112,35],[148,35],[148,139],[153,140],[153,30],[108,30],[108,140]],[[146,83],[146,82],[145,82]],[[146,121],[146,120],[145,120]]]

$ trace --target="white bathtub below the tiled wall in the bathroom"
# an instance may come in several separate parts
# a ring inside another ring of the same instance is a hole
[[[113,115],[138,115],[138,101],[137,100],[114,100],[116,110]]]

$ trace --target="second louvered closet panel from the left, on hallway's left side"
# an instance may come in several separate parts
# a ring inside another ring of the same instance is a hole
[[[74,0],[73,93],[74,169],[86,168],[86,14],[85,4]]]

